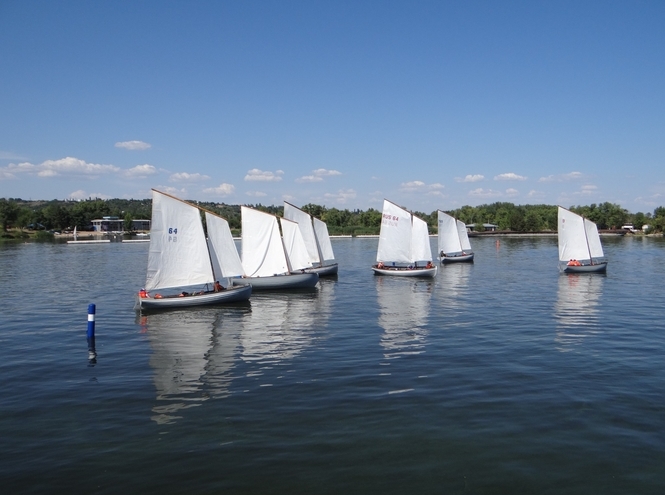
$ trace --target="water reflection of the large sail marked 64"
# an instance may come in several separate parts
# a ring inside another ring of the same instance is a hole
[[[147,331],[153,354],[150,366],[158,405],[153,408],[157,423],[180,418],[183,409],[207,400],[203,391],[207,353],[213,344],[214,310],[170,311],[139,317]]]

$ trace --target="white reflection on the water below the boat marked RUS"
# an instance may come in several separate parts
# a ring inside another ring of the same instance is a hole
[[[387,359],[419,354],[425,347],[433,280],[376,277],[381,347]]]

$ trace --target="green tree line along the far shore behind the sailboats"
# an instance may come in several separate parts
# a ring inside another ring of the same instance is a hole
[[[191,201],[202,208],[226,218],[233,231],[240,230],[240,206],[224,203]],[[282,206],[248,205],[253,208],[282,216]],[[307,213],[328,224],[331,234],[362,235],[378,234],[381,226],[381,211],[340,210],[321,205],[307,204],[301,207]],[[571,206],[570,210],[579,213],[598,225],[599,229],[620,229],[632,224],[636,229],[649,225],[648,232],[665,230],[665,207],[656,208],[653,213],[630,213],[613,203]],[[557,230],[557,207],[554,205],[515,205],[497,202],[480,206],[463,206],[446,213],[466,224],[474,224],[474,230],[483,230],[483,224],[496,225],[497,230],[513,232],[543,232]],[[413,212],[425,220],[430,232],[437,230],[437,210],[431,213]],[[124,220],[125,230],[131,230],[132,220],[150,219],[152,201],[150,199],[88,199],[82,201],[26,201],[18,198],[0,198],[0,224],[2,232],[8,229],[24,230],[90,230],[92,220],[112,216]]]

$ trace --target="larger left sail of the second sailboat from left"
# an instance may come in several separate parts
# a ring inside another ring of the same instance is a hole
[[[289,272],[277,217],[241,207],[242,266],[248,277],[270,277]]]

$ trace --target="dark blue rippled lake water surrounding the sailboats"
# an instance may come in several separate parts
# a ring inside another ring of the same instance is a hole
[[[1,246],[3,493],[662,493],[665,241],[498,240],[416,280],[335,239],[314,291],[148,315],[147,244]]]

